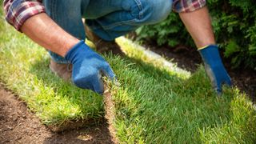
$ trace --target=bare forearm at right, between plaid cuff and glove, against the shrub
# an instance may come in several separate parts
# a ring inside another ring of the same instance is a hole
[[[215,44],[210,15],[206,6],[193,12],[180,13],[179,16],[198,48]]]

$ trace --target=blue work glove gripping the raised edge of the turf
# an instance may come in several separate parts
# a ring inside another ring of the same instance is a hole
[[[94,50],[91,50],[84,41],[78,42],[71,48],[65,58],[73,65],[72,81],[74,85],[82,89],[94,90],[98,94],[103,94],[102,74],[112,80],[115,78],[109,63]]]

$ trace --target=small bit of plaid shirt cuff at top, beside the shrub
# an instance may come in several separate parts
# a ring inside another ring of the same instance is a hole
[[[206,0],[174,0],[173,10],[178,13],[191,12],[206,6]]]

